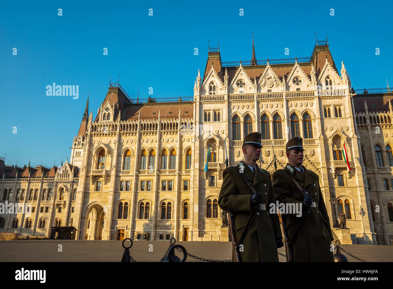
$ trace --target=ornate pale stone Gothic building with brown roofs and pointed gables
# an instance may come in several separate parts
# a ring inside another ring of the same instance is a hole
[[[0,232],[48,236],[61,219],[61,226],[77,228],[77,239],[144,239],[149,233],[154,240],[218,241],[226,154],[235,166],[244,136],[259,131],[258,164],[271,173],[274,160],[279,168],[286,164],[287,140],[303,138],[304,166],[320,177],[331,225],[340,212],[347,217],[347,234],[334,228],[335,239],[389,244],[393,94],[355,94],[327,41],[316,42],[311,57],[299,59],[257,61],[252,48],[252,60],[243,63],[222,62],[219,48],[209,48],[203,78],[198,70],[189,99],[130,99],[118,83],[110,83],[95,118],[87,101],[70,162],[51,169],[3,162],[0,198],[36,209],[31,228],[25,228],[30,221],[23,213],[0,215]],[[378,109],[367,109],[364,100]],[[16,200],[10,190],[38,195]],[[39,228],[42,219],[46,226]]]

